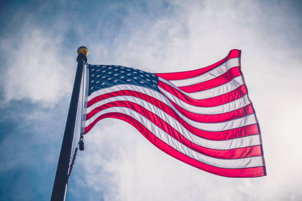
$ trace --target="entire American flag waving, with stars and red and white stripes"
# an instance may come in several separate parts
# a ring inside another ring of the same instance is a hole
[[[191,166],[227,177],[266,175],[240,54],[231,50],[216,64],[175,73],[88,65],[85,134],[101,119],[117,118]]]

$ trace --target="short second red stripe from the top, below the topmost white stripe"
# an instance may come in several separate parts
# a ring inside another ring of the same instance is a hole
[[[233,78],[240,75],[241,74],[240,74],[239,67],[232,67],[231,69],[227,70],[226,73],[220,75],[219,77],[198,84],[179,87],[179,89],[187,93],[204,91],[207,89],[212,89],[214,87],[218,87],[220,85],[226,84],[227,82],[231,81]]]

